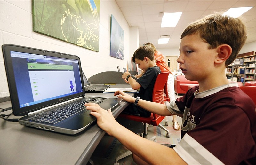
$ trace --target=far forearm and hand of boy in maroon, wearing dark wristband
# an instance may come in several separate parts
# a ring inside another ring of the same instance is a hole
[[[136,99],[120,90],[117,90],[114,93],[114,96],[116,96],[116,95],[118,98],[122,98],[129,103],[134,103],[135,99]],[[137,106],[140,106],[141,108],[143,108],[149,112],[153,112],[153,113],[159,114],[161,116],[173,115],[168,111],[166,105],[164,105],[164,104],[155,103],[155,102],[151,102],[151,101],[145,101],[145,100],[140,99]]]

